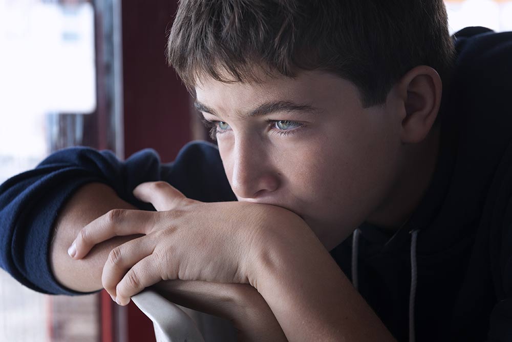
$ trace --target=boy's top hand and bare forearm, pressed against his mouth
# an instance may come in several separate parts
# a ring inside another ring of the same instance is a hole
[[[116,248],[105,264],[102,284],[121,305],[161,280],[248,283],[289,340],[394,341],[296,214],[262,204],[201,203],[164,182],[141,184],[134,193],[158,212],[139,222],[141,213],[127,210],[115,225],[100,217],[75,241],[74,257],[81,259],[119,234],[145,234]]]

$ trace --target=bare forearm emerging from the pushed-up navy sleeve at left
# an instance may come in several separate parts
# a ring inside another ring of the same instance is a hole
[[[101,183],[81,187],[59,213],[50,247],[50,263],[57,281],[75,291],[89,292],[102,288],[101,273],[110,251],[135,236],[115,237],[98,244],[87,257],[75,260],[68,248],[81,228],[111,209],[136,209],[115,191]]]

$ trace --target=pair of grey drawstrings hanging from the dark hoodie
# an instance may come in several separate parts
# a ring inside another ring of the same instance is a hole
[[[409,232],[411,237],[411,292],[409,294],[409,342],[415,342],[414,333],[414,301],[416,297],[416,285],[418,282],[418,269],[416,265],[416,246],[418,242],[419,230],[415,229]],[[359,252],[359,228],[354,230],[352,235],[352,285],[356,290],[358,286],[357,279],[357,256]]]

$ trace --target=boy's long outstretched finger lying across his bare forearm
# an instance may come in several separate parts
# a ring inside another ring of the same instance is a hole
[[[147,234],[154,227],[155,214],[143,210],[111,210],[80,230],[68,254],[80,259],[86,256],[94,245],[114,236]]]

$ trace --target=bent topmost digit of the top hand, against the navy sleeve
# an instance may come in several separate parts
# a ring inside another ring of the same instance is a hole
[[[151,203],[158,211],[174,209],[186,198],[178,189],[162,181],[139,184],[133,194],[143,202]]]

